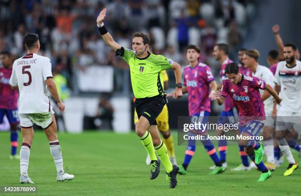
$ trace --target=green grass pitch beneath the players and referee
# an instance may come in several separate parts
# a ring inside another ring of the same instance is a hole
[[[22,141],[22,136],[20,136]],[[177,141],[176,132],[174,139]],[[64,168],[74,174],[72,181],[57,182],[56,168],[50,154],[49,143],[43,132],[36,131],[30,150],[29,175],[39,196],[284,196],[301,195],[301,171],[284,177],[288,163],[272,172],[272,178],[258,183],[260,172],[231,172],[240,164],[237,146],[228,148],[228,170],[219,175],[208,175],[212,165],[204,147],[196,153],[185,176],[178,175],[178,186],[169,188],[165,170],[150,180],[150,167],[145,164],[146,150],[134,133],[85,132],[59,134]],[[19,142],[19,145],[21,142]],[[185,146],[175,146],[181,164]],[[9,160],[9,133],[0,133],[0,186],[20,186],[19,161]],[[18,150],[20,147],[18,148]],[[294,156],[299,158],[295,150]],[[24,186],[24,185],[22,185]],[[0,193],[1,195],[2,193]],[[13,194],[7,194],[12,196]],[[20,194],[15,194],[20,196]],[[24,194],[21,194],[24,195]]]

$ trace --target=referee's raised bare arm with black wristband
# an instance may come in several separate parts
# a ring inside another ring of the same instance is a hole
[[[117,49],[120,49],[121,46],[114,41],[113,37],[111,36],[111,34],[107,31],[106,27],[104,26],[103,21],[105,20],[106,12],[107,12],[107,9],[104,8],[99,13],[99,15],[96,19],[97,27],[98,27],[99,32],[100,32],[104,42],[106,43],[106,45],[108,47],[110,47],[111,49],[113,49],[114,51],[116,51]]]

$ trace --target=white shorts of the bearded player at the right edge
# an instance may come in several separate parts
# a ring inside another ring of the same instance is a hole
[[[292,128],[301,133],[301,112],[286,112],[278,110],[276,131],[291,131]]]

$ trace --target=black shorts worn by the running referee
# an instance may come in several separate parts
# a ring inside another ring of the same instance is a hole
[[[156,118],[161,113],[164,105],[165,102],[160,95],[151,98],[136,98],[135,101],[138,118],[144,116],[149,120],[150,125],[157,125]]]

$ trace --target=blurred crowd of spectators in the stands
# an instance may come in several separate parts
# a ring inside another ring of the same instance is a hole
[[[127,65],[106,47],[96,27],[106,7],[108,31],[120,45],[131,48],[136,31],[151,37],[155,54],[181,65],[188,44],[201,48],[201,61],[219,72],[211,53],[216,43],[227,43],[236,56],[246,36],[248,21],[256,14],[258,0],[0,0],[0,51],[15,58],[25,54],[23,36],[39,35],[40,54],[51,59],[53,70],[63,75],[71,92],[78,72],[89,66],[113,65],[116,89],[129,74]],[[119,84],[118,84],[119,83]],[[130,91],[128,91],[130,93]]]

